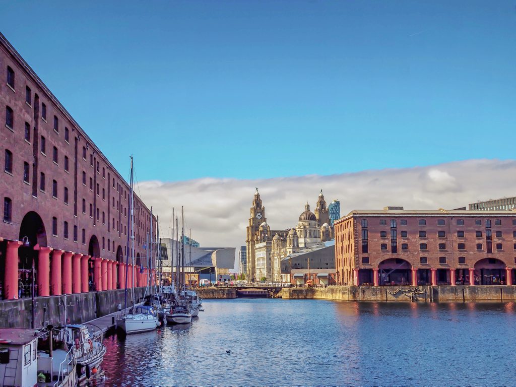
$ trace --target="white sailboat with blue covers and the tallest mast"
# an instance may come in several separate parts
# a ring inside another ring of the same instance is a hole
[[[129,213],[131,214],[128,222],[130,223],[128,229],[131,230],[130,235],[127,236],[127,252],[131,252],[131,261],[134,265],[134,179],[133,179],[133,156],[131,156],[131,192],[130,192],[130,206]],[[125,296],[124,296],[124,310],[116,320],[116,327],[126,334],[148,332],[156,329],[159,325],[158,317],[154,312],[154,308],[149,305],[140,305],[136,307],[134,300],[134,284],[135,273],[132,270],[132,286],[131,286],[131,300],[132,308],[130,313],[125,313],[127,310],[127,274],[128,274],[129,255],[126,256],[125,269]]]

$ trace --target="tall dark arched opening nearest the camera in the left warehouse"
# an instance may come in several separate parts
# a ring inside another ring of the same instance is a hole
[[[43,220],[38,213],[30,211],[22,219],[20,224],[19,240],[23,244],[18,249],[18,275],[20,297],[31,297],[33,291],[33,264],[34,283],[37,283],[38,250],[36,245],[47,246],[46,230]],[[4,268],[1,268],[4,269]]]

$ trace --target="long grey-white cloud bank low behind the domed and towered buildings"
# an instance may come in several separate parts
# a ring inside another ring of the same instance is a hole
[[[186,229],[201,246],[245,245],[249,208],[258,187],[272,229],[294,227],[308,200],[313,211],[319,189],[341,216],[353,209],[387,205],[405,209],[457,208],[477,200],[516,195],[516,160],[475,159],[430,167],[366,170],[328,176],[275,179],[196,179],[140,182],[136,193],[159,215],[161,236],[170,236],[172,208],[184,206]]]

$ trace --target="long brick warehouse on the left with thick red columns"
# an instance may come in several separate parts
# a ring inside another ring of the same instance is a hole
[[[39,296],[123,288],[130,187],[2,34],[0,97],[2,298],[30,294],[33,262]],[[134,207],[136,264],[147,266],[156,222],[136,196]],[[147,283],[147,269],[127,270]]]

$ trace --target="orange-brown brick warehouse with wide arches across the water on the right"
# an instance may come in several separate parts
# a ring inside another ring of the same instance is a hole
[[[338,284],[515,283],[516,212],[400,208],[335,221]]]

